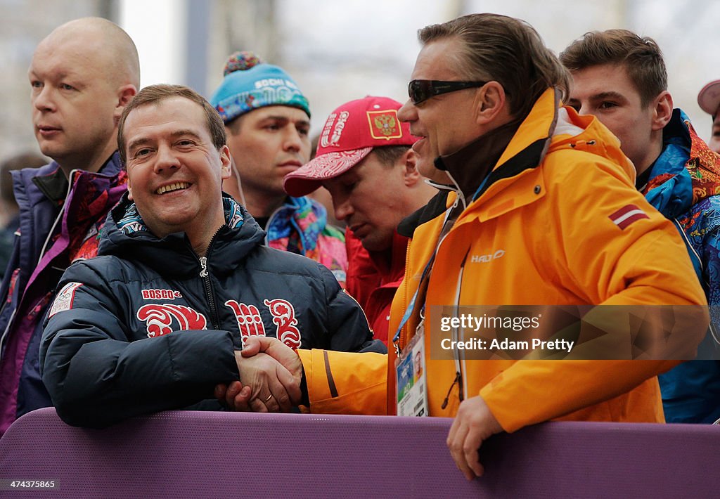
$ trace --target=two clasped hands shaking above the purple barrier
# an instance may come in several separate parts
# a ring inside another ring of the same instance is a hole
[[[276,338],[250,336],[242,351],[235,351],[239,381],[215,386],[215,398],[230,410],[287,413],[300,405],[302,362]]]

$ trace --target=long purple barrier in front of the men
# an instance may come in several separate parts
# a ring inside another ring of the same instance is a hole
[[[720,426],[547,423],[496,436],[467,482],[451,420],[169,411],[106,430],[53,408],[0,439],[0,482],[55,480],[18,498],[712,498]]]

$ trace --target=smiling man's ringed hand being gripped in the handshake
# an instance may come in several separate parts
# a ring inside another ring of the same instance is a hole
[[[256,413],[289,411],[295,400],[300,400],[300,381],[295,383],[293,375],[273,357],[254,350],[254,355],[235,351],[240,382],[251,389],[250,408]]]

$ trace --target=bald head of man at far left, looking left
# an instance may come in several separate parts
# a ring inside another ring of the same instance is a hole
[[[28,71],[40,150],[70,171],[98,170],[115,148],[122,107],[140,86],[138,50],[117,24],[63,24],[35,50]]]

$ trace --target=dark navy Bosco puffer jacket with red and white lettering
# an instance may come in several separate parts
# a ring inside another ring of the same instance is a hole
[[[151,234],[125,196],[107,217],[102,256],[65,272],[40,365],[66,422],[102,427],[210,399],[217,383],[238,379],[234,350],[255,334],[293,348],[384,351],[328,269],[263,246],[252,217],[224,204],[206,261],[184,233]]]

